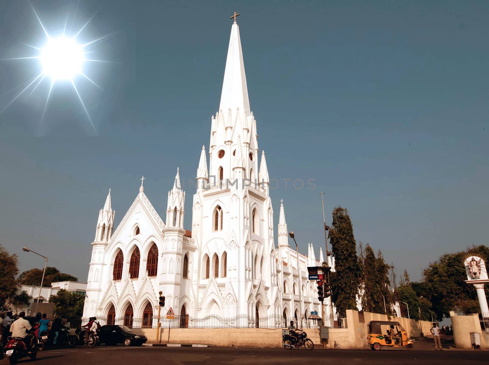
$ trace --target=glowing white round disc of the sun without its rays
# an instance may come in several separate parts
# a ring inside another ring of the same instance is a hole
[[[61,37],[48,39],[41,50],[41,64],[44,75],[51,80],[71,80],[82,73],[85,61],[83,48],[74,39]]]

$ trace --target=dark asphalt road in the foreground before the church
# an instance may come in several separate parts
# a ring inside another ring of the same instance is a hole
[[[483,350],[328,350],[315,348],[228,348],[228,347],[123,347],[76,346],[45,350],[37,361],[25,358],[19,364],[133,364],[133,365],[196,365],[196,364],[487,364],[489,352]],[[8,364],[4,358],[0,364]]]

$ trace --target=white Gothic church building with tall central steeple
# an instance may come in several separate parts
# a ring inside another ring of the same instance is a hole
[[[274,231],[257,124],[249,106],[235,20],[219,111],[211,119],[209,148],[202,146],[200,151],[191,231],[184,228],[190,217],[185,221],[185,192],[177,166],[165,220],[146,197],[143,178],[114,229],[109,191],[91,243],[84,320],[96,316],[108,324],[155,327],[159,291],[165,296],[163,318],[170,307],[176,314],[172,326],[281,327],[284,318],[300,321],[311,311],[321,316],[307,266],[323,262],[322,250],[316,260],[310,244],[307,256],[299,254],[297,270],[283,202]],[[328,308],[325,305],[326,316]]]

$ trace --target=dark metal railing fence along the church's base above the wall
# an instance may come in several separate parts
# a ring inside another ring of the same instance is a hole
[[[101,325],[104,324],[117,324],[125,325],[132,328],[156,328],[158,320],[156,317],[144,317],[137,318],[126,315],[120,318],[110,318],[111,323],[107,323],[107,317],[98,316],[97,320]],[[290,321],[294,322],[295,327],[301,327],[301,320],[292,317],[285,318],[277,314],[271,314],[267,317],[252,317],[246,314],[239,315],[237,317],[221,317],[216,315],[210,315],[202,318],[194,318],[187,315],[174,316],[173,319],[166,319],[164,316],[160,317],[160,326],[164,328],[284,328],[288,327]],[[80,325],[85,325],[89,322],[88,318],[83,318]],[[330,321],[331,322],[331,319]],[[72,325],[73,326],[73,325]],[[346,319],[334,318],[333,325],[326,323],[326,326],[334,328],[346,328]],[[303,328],[317,328],[317,321],[302,319]]]

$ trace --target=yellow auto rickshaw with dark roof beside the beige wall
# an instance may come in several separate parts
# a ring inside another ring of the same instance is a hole
[[[380,346],[413,348],[413,341],[407,339],[407,332],[399,322],[370,321],[367,342],[372,350],[380,350]]]

